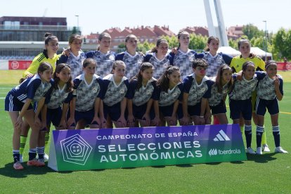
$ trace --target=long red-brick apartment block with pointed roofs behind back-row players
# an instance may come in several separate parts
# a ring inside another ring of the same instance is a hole
[[[111,46],[112,48],[118,48],[119,44],[124,43],[125,37],[127,37],[128,34],[134,34],[138,38],[138,40],[143,43],[145,41],[148,41],[149,43],[155,43],[157,39],[164,36],[172,37],[174,36],[174,32],[169,30],[169,26],[157,26],[149,27],[149,26],[141,26],[141,27],[134,27],[129,28],[125,27],[124,30],[121,30],[119,27],[112,27],[108,30],[104,30],[103,32],[108,32],[110,34],[112,40],[111,40]],[[99,34],[91,33],[89,35],[85,36],[86,44],[97,44],[98,43],[98,37]]]

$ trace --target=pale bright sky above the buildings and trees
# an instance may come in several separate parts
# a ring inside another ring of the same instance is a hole
[[[5,3],[4,3],[5,2]],[[69,26],[79,26],[82,34],[102,32],[110,27],[169,25],[177,33],[187,26],[207,26],[203,0],[13,0],[0,6],[1,16],[66,17]],[[213,2],[213,1],[212,1]],[[221,0],[226,27],[252,23],[269,32],[291,29],[290,0]]]

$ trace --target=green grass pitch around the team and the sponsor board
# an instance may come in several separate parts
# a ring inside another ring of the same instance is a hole
[[[13,127],[4,112],[4,98],[18,83],[22,71],[0,71],[0,193],[290,193],[291,72],[279,73],[285,78],[284,98],[280,101],[281,145],[288,154],[273,153],[267,115],[265,127],[271,153],[247,155],[247,161],[243,162],[80,172],[54,172],[48,167],[24,164],[25,169],[16,172],[12,167]],[[254,133],[252,147],[255,147]]]

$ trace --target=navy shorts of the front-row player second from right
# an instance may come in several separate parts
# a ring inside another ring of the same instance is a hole
[[[251,98],[242,101],[229,100],[229,108],[231,109],[231,119],[240,119],[240,112],[245,120],[252,119],[252,101]]]

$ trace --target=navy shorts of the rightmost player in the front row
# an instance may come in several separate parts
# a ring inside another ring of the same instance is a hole
[[[257,115],[264,116],[266,114],[266,108],[270,115],[276,115],[279,113],[279,105],[277,98],[273,100],[264,100],[261,98],[257,98],[256,102],[256,113]]]

